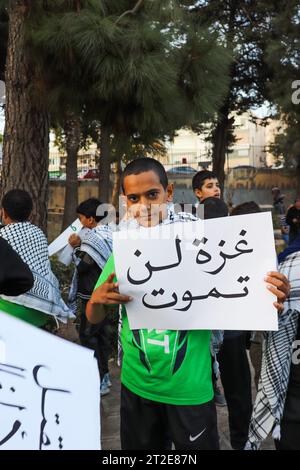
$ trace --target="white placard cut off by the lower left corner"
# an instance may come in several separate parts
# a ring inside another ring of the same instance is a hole
[[[0,312],[0,450],[100,449],[93,351]]]

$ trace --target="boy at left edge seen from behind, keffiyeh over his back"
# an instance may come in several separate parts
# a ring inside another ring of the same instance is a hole
[[[40,228],[29,222],[33,208],[31,196],[26,191],[13,189],[4,195],[1,205],[5,225],[1,237],[28,265],[34,284],[23,295],[1,295],[0,309],[39,327],[46,326],[53,318],[67,322],[74,316],[64,303],[58,280],[51,270],[47,238]]]

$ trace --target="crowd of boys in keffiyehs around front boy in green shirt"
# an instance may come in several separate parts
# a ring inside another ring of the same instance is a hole
[[[249,201],[229,214],[218,178],[210,171],[198,172],[192,186],[198,200],[195,208],[176,211],[173,185],[164,167],[152,158],[138,158],[122,175],[127,214],[116,227],[98,215],[99,200],[83,201],[77,213],[84,230],[69,239],[74,275],[68,301],[62,299],[51,270],[47,239],[29,221],[30,195],[19,189],[9,191],[1,202],[0,310],[40,328],[49,319],[66,322],[77,314],[80,342],[95,351],[99,393],[105,396],[111,387],[110,312],[119,306],[124,450],[218,450],[216,404],[228,407],[233,449],[258,449],[273,433],[277,449],[299,450],[300,360],[293,347],[300,339],[300,198],[286,216],[285,223],[291,227],[289,246],[280,254],[278,271],[265,279],[278,310],[278,331],[129,327],[126,304],[132,297],[119,292],[113,229],[195,221],[201,206],[204,219],[220,218],[222,230],[223,217],[260,212]],[[161,347],[166,337],[167,351]],[[257,387],[254,404],[248,350]],[[225,397],[218,387],[218,369]]]

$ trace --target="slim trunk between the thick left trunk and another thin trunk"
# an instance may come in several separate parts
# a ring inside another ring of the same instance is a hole
[[[64,132],[66,137],[67,164],[63,230],[76,219],[76,208],[78,206],[77,159],[81,137],[80,119],[74,115],[68,116],[65,120]]]

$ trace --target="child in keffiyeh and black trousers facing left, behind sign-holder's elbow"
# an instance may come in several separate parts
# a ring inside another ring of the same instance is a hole
[[[108,360],[111,353],[111,322],[107,317],[101,324],[92,325],[86,318],[85,310],[103,266],[112,251],[112,235],[106,225],[98,225],[103,216],[97,215],[101,202],[96,198],[83,201],[77,207],[77,214],[84,230],[82,239],[73,234],[69,244],[74,248],[76,266],[70,300],[79,300],[79,338],[83,346],[93,349],[98,362],[101,396],[110,392]]]

